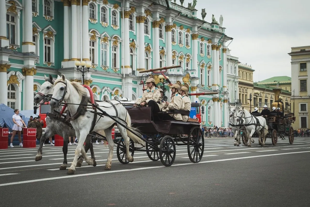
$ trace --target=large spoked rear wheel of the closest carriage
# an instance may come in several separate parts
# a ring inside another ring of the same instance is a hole
[[[187,152],[189,160],[197,163],[201,160],[205,148],[205,140],[201,128],[194,127],[188,136]]]

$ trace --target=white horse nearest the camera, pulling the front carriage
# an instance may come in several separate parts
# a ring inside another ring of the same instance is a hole
[[[52,99],[50,101],[50,105],[52,108],[56,108],[60,105],[62,101],[65,101],[68,104],[68,109],[71,113],[71,116],[75,117],[75,114],[78,112],[78,108],[80,106],[83,96],[84,97],[87,96],[86,89],[80,83],[70,82],[65,78],[63,74],[61,74],[61,78],[55,80],[54,92]],[[98,102],[98,105],[100,109],[106,112],[106,114],[113,116],[114,119],[116,119],[119,123],[127,125],[127,127],[131,129],[131,131],[135,132],[135,134],[138,134],[140,136],[139,132],[135,128],[131,128],[131,118],[126,108],[122,104],[120,104],[119,101],[117,100],[103,101]],[[86,111],[84,111],[85,112],[84,114],[81,114],[76,119],[71,120],[71,124],[75,129],[76,136],[78,137],[78,146],[75,150],[75,156],[67,174],[74,174],[78,155],[80,153],[82,153],[85,161],[88,164],[90,165],[95,164],[95,160],[89,158],[86,155],[85,150],[83,148],[83,143],[86,139],[86,136],[91,131],[93,125],[94,126],[92,131],[104,130],[109,146],[109,153],[107,162],[105,164],[105,170],[111,169],[113,148],[114,148],[114,142],[112,140],[111,132],[115,124],[115,121],[109,118],[107,115],[103,115],[103,117],[100,117],[98,115],[97,118],[94,119],[95,117],[94,111],[95,111],[94,109],[88,107]],[[100,113],[100,111],[98,112]],[[139,143],[141,145],[143,145],[142,144],[143,140],[140,139],[138,136],[136,136],[134,133],[132,133],[130,130],[123,127],[121,124],[117,123],[117,128],[119,132],[122,134],[122,137],[125,141],[126,158],[128,161],[133,162],[134,159],[129,153],[129,137],[131,138],[132,141],[134,141],[135,143]]]

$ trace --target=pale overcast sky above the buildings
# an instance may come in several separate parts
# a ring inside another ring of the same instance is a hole
[[[189,2],[193,0],[185,0],[184,7]],[[252,65],[254,81],[291,77],[287,53],[291,47],[310,45],[310,0],[197,0],[195,8],[200,19],[201,8],[206,8],[209,23],[212,14],[218,22],[223,15],[225,34],[234,38],[231,55]]]

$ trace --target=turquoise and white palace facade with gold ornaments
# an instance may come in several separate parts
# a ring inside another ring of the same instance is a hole
[[[191,93],[219,92],[191,97],[205,106],[202,125],[227,127],[225,44],[232,38],[214,17],[212,23],[198,19],[195,8],[180,2],[1,0],[0,102],[33,109],[44,75],[81,82],[76,61],[91,64],[84,83],[95,99],[135,100],[145,80],[140,71],[181,65],[168,70],[172,83],[188,83]],[[170,99],[167,84],[155,79]]]

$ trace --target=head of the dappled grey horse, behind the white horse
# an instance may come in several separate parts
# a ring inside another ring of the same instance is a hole
[[[36,104],[42,104],[44,101],[48,100],[48,96],[51,96],[54,91],[54,80],[51,74],[48,77],[44,75],[44,78],[45,82],[41,85],[40,91],[38,91],[38,93],[34,97],[34,102]]]

